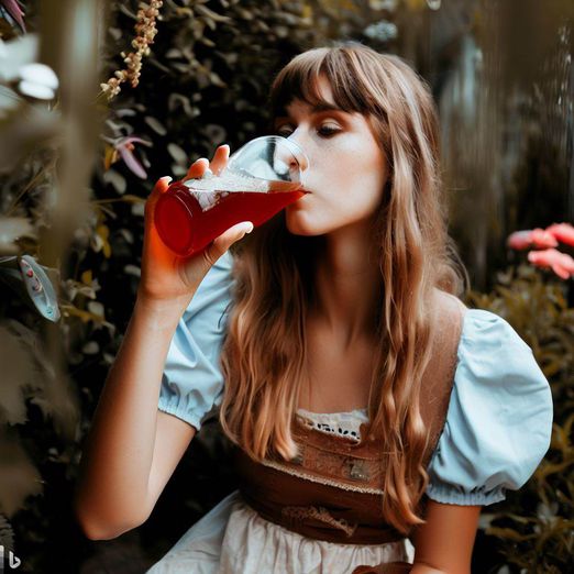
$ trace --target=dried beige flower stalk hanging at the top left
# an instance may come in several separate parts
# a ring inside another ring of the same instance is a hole
[[[124,81],[130,81],[132,88],[135,88],[140,82],[142,58],[150,55],[150,44],[154,43],[155,34],[157,34],[155,20],[159,15],[159,9],[163,3],[163,0],[151,0],[150,5],[140,2],[137,21],[134,26],[135,37],[132,41],[135,52],[130,52],[128,55],[125,55],[125,52],[122,52],[126,67],[115,70],[113,77],[106,84],[100,84],[102,92],[108,96],[108,101],[120,93],[120,85]]]

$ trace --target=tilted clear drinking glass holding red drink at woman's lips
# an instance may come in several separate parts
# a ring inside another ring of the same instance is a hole
[[[301,172],[309,159],[295,142],[264,135],[233,153],[218,174],[172,184],[155,206],[162,241],[187,257],[241,221],[261,225],[308,191]]]

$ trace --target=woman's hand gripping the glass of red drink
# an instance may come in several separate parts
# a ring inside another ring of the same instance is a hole
[[[202,177],[208,168],[214,174],[227,165],[229,146],[220,145],[211,164],[205,157],[195,162],[188,169],[187,178]],[[216,263],[245,233],[251,233],[253,224],[241,222],[216,238],[203,251],[189,257],[180,257],[173,253],[159,239],[154,223],[155,203],[167,190],[172,178],[162,177],[155,185],[145,203],[145,229],[142,254],[142,277],[137,289],[137,298],[145,301],[173,302],[187,307],[199,284]]]

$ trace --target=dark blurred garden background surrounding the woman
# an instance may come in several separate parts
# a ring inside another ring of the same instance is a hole
[[[572,0],[0,0],[7,564],[11,551],[21,572],[144,572],[234,489],[212,417],[145,525],[93,542],[71,512],[154,181],[266,133],[274,74],[344,40],[400,55],[431,85],[465,300],[506,318],[552,386],[551,449],[483,509],[473,573],[574,572],[574,236],[543,231],[574,223]]]

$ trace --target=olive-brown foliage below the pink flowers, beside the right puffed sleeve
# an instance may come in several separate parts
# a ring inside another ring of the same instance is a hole
[[[567,284],[527,266],[498,274],[493,292],[470,302],[504,317],[531,346],[554,401],[550,450],[532,478],[483,515],[486,534],[500,556],[525,573],[563,573],[574,567],[574,308]]]

